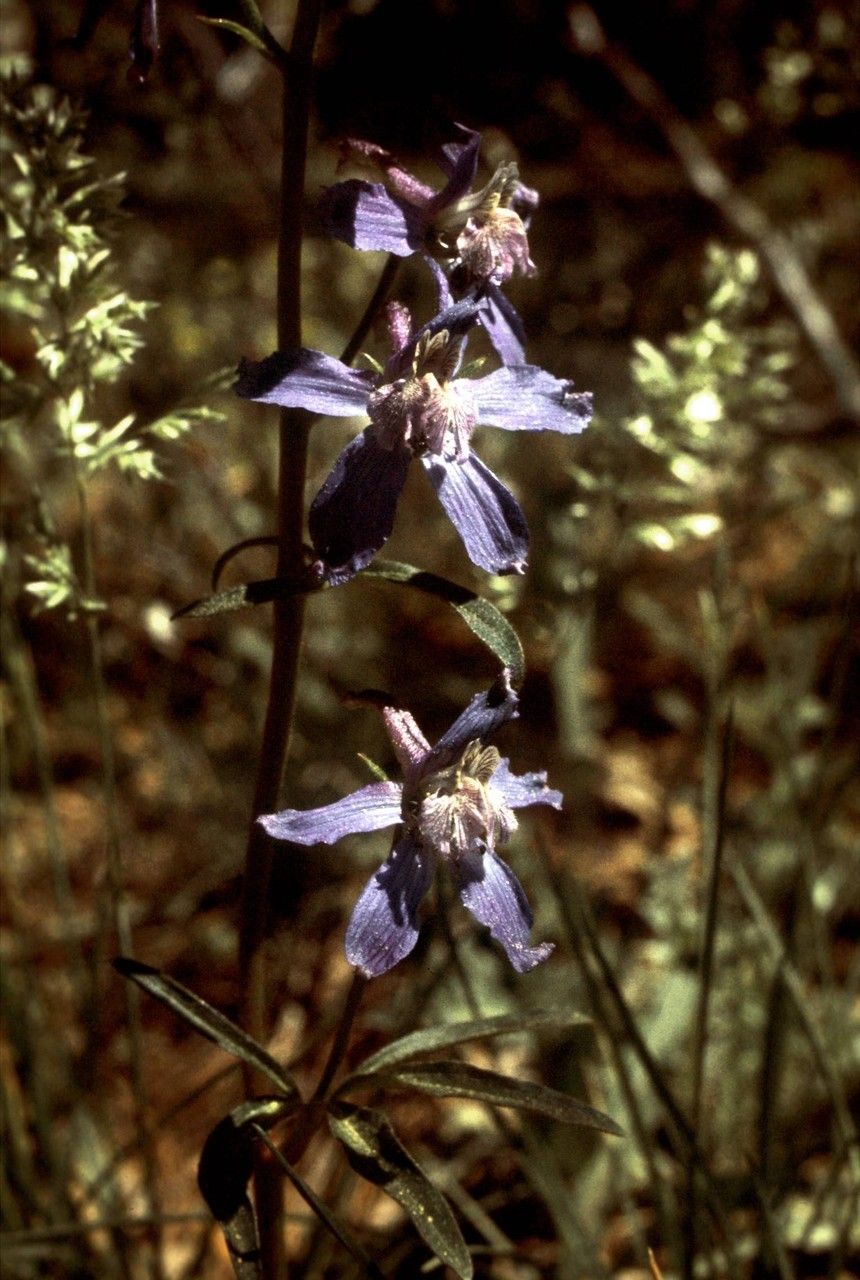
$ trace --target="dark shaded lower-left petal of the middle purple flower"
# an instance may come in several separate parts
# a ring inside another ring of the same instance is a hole
[[[370,429],[340,453],[308,512],[326,581],[353,577],[390,536],[411,461],[410,449],[384,449]]]

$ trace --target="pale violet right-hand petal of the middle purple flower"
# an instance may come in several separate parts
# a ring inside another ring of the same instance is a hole
[[[480,421],[506,431],[562,431],[575,435],[591,421],[591,393],[536,365],[509,365],[476,378]]]

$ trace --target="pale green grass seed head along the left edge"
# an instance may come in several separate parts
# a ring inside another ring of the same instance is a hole
[[[155,445],[220,415],[197,407],[147,424],[131,413],[110,420],[105,388],[143,346],[141,324],[154,307],[131,298],[116,278],[123,175],[99,175],[82,151],[86,116],[54,90],[8,70],[0,88],[0,315],[13,352],[0,366],[3,440],[33,509],[23,586],[42,608],[74,614],[97,602],[83,598],[69,549],[37,495],[51,456],[69,458],[81,484],[111,466],[157,479]]]

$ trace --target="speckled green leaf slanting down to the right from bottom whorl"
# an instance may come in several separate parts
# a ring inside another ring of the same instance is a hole
[[[472,1260],[448,1202],[401,1146],[385,1116],[334,1102],[329,1128],[343,1143],[351,1167],[397,1201],[435,1256],[461,1280],[471,1280]]]

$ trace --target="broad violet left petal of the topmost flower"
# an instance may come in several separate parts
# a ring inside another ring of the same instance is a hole
[[[426,219],[420,209],[389,195],[381,182],[348,178],[322,193],[322,221],[330,236],[353,248],[381,250],[408,257],[424,244]]]

